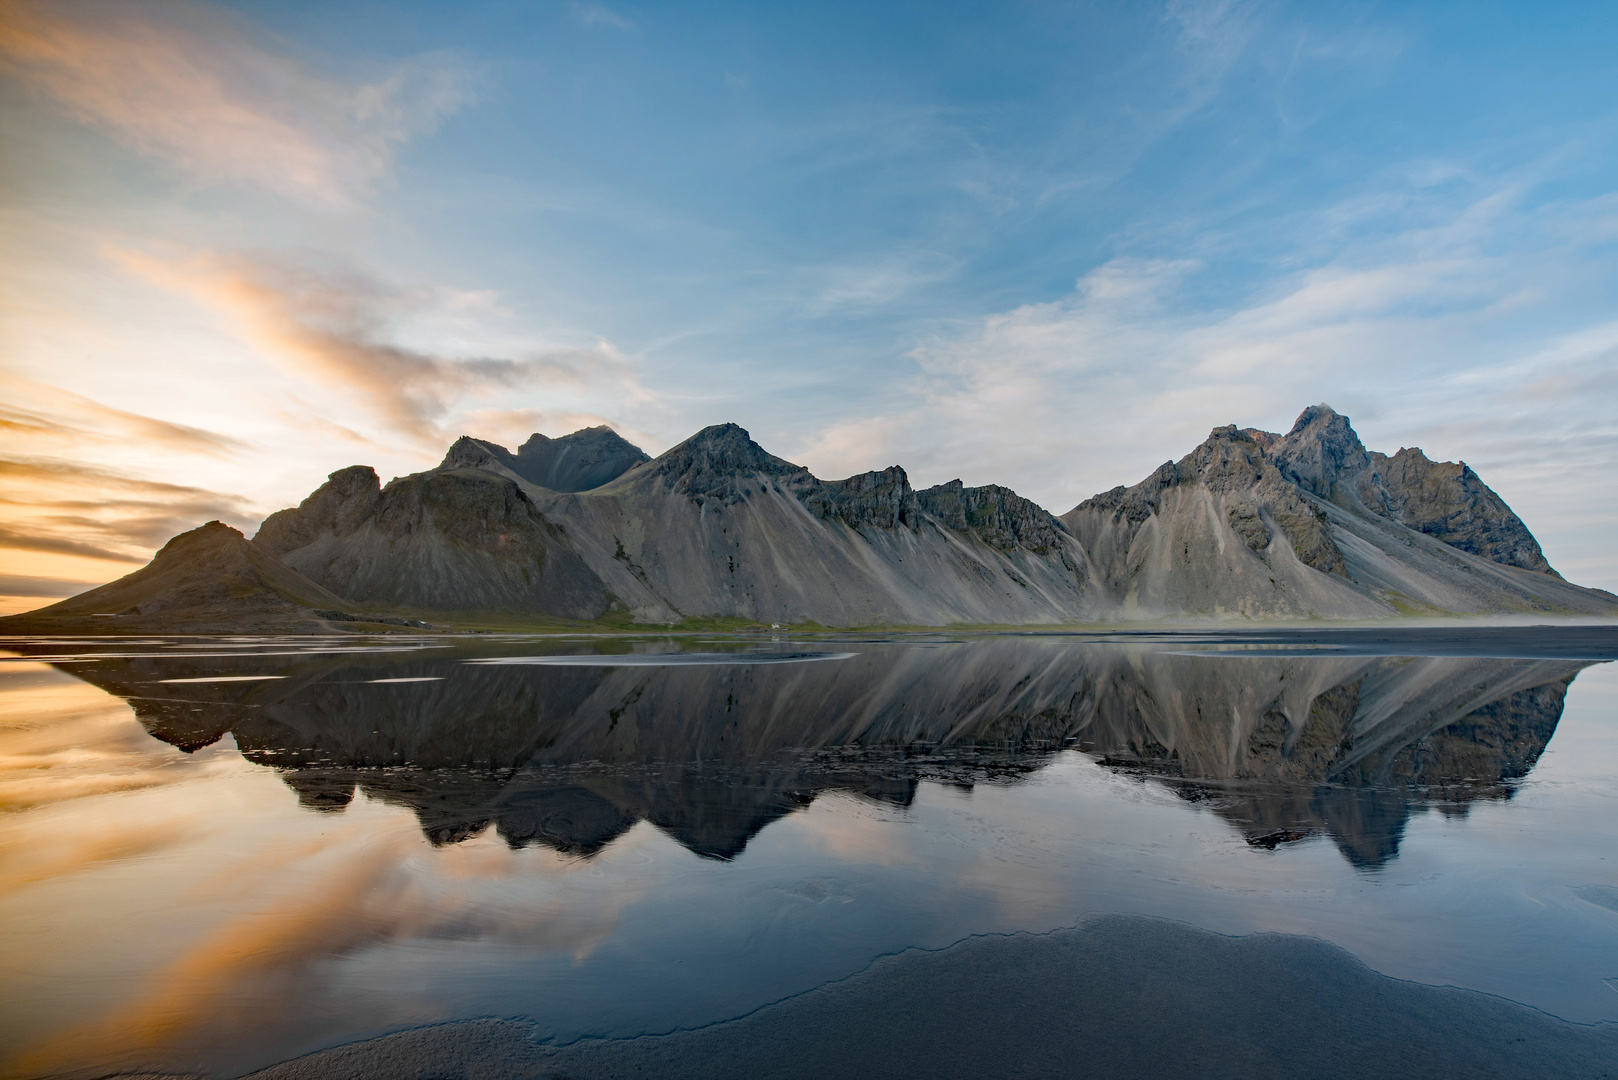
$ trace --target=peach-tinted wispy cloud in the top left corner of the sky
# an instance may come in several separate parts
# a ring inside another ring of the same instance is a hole
[[[447,55],[366,81],[314,71],[196,0],[0,0],[0,71],[202,183],[346,207],[469,100]]]

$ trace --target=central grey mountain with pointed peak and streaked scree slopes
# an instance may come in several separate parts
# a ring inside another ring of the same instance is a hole
[[[1071,536],[1058,555],[993,547],[927,513],[901,468],[822,481],[735,424],[547,512],[616,602],[650,622],[1055,623],[1100,614]]]

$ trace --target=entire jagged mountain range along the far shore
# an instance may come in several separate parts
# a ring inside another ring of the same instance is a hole
[[[3,631],[688,620],[1065,625],[1618,615],[1464,463],[1370,452],[1346,416],[1215,427],[1060,518],[1008,487],[819,479],[718,424],[650,458],[608,427],[424,473],[332,473],[249,541],[212,521]]]

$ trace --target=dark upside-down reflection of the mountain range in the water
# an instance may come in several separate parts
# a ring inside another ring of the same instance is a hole
[[[822,792],[906,806],[922,780],[1016,782],[1079,751],[1205,801],[1252,845],[1324,832],[1377,868],[1414,808],[1510,798],[1587,665],[1031,638],[793,664],[476,662],[495,654],[146,654],[66,670],[126,698],[163,742],[189,751],[230,732],[304,806],[341,811],[362,789],[414,811],[434,844],[493,824],[511,847],[589,857],[646,819],[735,858]],[[165,682],[209,674],[278,678]]]

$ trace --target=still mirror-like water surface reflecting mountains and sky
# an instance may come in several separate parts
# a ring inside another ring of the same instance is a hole
[[[977,640],[61,640],[0,664],[0,1062],[743,1015],[1103,912],[1618,1020],[1618,674]]]

